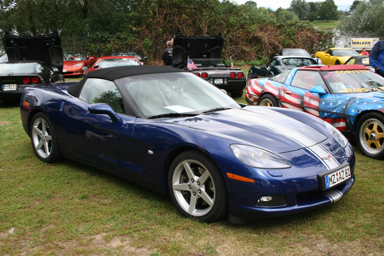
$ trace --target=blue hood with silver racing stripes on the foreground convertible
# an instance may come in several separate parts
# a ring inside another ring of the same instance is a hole
[[[233,143],[257,146],[274,153],[307,148],[328,138],[295,118],[257,106],[171,119],[169,122],[220,133],[232,137]]]

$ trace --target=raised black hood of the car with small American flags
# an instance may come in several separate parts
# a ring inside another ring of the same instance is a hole
[[[187,37],[176,32],[173,37],[172,61],[174,65],[185,63],[190,59],[221,59],[224,37],[218,33],[212,37]]]

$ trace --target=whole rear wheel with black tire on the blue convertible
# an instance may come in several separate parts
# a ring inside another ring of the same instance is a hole
[[[36,126],[37,130],[34,129],[34,126]],[[45,130],[45,136],[41,136],[42,133],[38,130]],[[33,116],[30,127],[30,135],[33,150],[41,161],[45,163],[55,163],[63,159],[63,156],[60,153],[60,146],[56,136],[55,126],[46,113],[41,111]],[[39,146],[40,142],[42,143],[41,146]],[[48,152],[48,154],[46,152]]]

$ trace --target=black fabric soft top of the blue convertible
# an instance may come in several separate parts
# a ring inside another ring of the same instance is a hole
[[[101,68],[93,70],[87,73],[86,77],[78,83],[68,88],[68,93],[72,96],[77,97],[81,86],[83,86],[86,78],[101,78],[109,81],[114,81],[127,76],[137,75],[149,75],[149,74],[160,74],[160,73],[174,73],[174,72],[188,72],[186,70],[172,68],[170,66],[115,66],[112,68]]]

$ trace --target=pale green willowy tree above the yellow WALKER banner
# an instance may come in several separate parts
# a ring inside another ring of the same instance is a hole
[[[351,16],[340,18],[343,37],[384,37],[384,0],[362,1]]]

